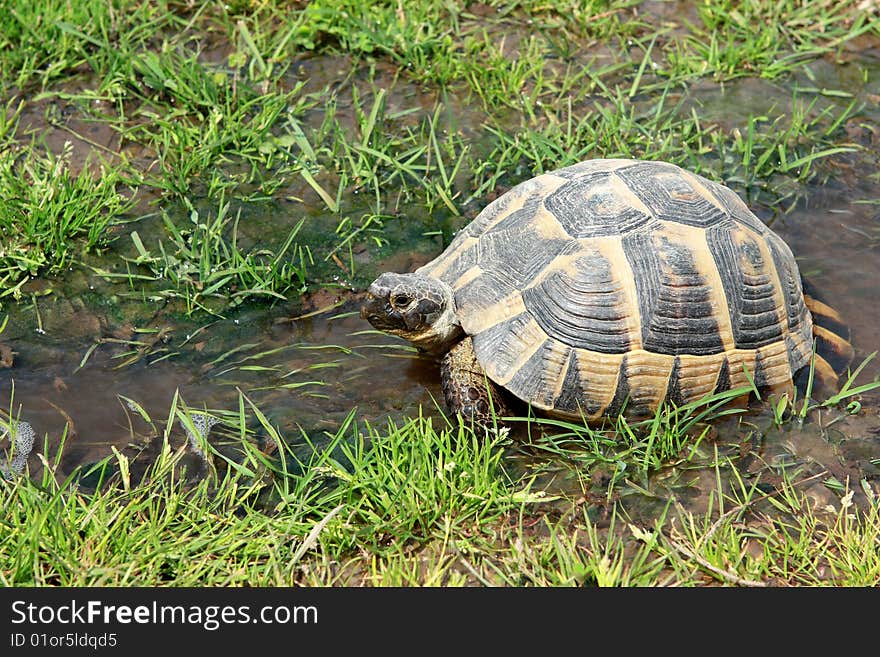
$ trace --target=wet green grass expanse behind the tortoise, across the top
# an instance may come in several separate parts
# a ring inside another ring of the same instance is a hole
[[[16,215],[31,228],[16,231],[6,254],[4,296],[19,296],[25,274],[53,273],[106,240],[130,209],[112,200],[114,188],[179,207],[199,195],[323,206],[340,215],[337,238],[309,256],[338,258],[349,273],[355,247],[376,255],[399,247],[381,229],[360,241],[387,218],[409,215],[426,237],[448,238],[459,225],[449,217],[470,216],[499,188],[589,157],[666,159],[779,204],[800,183],[821,181],[824,161],[860,148],[844,130],[860,102],[834,89],[809,98],[793,86],[790,105],[730,126],[687,102],[688,87],[707,77],[784,80],[880,32],[874,12],[833,0],[700,5],[659,28],[642,3],[598,0],[574,8],[322,0],[293,10],[207,2],[192,13],[135,0],[87,4],[16,2],[0,21],[0,198],[32,199]],[[711,57],[700,50],[716,43],[727,45]],[[337,57],[339,80],[322,74],[310,84],[315,57]],[[418,102],[389,105],[389,94],[410,88]],[[30,122],[19,125],[37,103],[49,104],[50,126],[79,142],[95,144],[93,125],[117,135],[117,146],[96,147],[106,156],[97,188],[76,188],[69,176],[71,194],[92,211],[76,213],[82,230],[63,235],[60,253],[59,239],[43,237],[52,216],[31,211],[46,196],[41,176],[62,159],[36,155]],[[485,129],[468,134],[458,110],[482,117]],[[21,175],[29,169],[31,179]]]

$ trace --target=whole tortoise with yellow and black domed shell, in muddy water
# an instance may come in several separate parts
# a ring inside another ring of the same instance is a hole
[[[449,409],[477,421],[506,395],[550,417],[644,417],[750,380],[790,390],[814,345],[828,384],[852,358],[785,242],[731,189],[659,161],[516,185],[431,262],[381,274],[361,316],[438,358]]]

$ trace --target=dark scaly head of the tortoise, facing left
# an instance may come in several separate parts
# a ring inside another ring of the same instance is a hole
[[[461,337],[452,288],[424,274],[382,274],[367,290],[361,317],[421,351],[446,353]]]

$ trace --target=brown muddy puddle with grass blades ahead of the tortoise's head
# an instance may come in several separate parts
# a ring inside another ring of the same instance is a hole
[[[49,332],[20,334],[7,341],[15,366],[0,371],[0,398],[38,442],[46,438],[48,449],[40,451],[56,454],[66,432],[59,475],[107,456],[111,446],[128,455],[150,447],[175,395],[193,411],[223,415],[237,411],[241,391],[282,435],[295,442],[305,432],[318,445],[352,409],[374,426],[420,405],[434,411],[441,397],[433,363],[372,331],[354,312],[356,300],[331,305],[337,307],[312,317],[263,309],[201,331],[181,326],[135,362],[131,344],[66,345]],[[95,323],[85,311],[77,320]],[[171,434],[172,443],[185,442],[179,422]],[[39,468],[36,455],[30,465]]]

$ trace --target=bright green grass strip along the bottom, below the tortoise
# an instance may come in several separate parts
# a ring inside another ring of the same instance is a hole
[[[423,417],[379,429],[352,414],[318,446],[283,435],[245,396],[207,414],[175,397],[164,429],[147,419],[159,449],[146,466],[116,451],[65,475],[62,441],[32,478],[0,483],[4,586],[880,583],[880,502],[867,485],[861,505],[844,487],[817,509],[795,472],[769,492],[719,475],[704,515],[673,496],[646,522],[624,499],[583,504],[512,477],[504,432]]]

